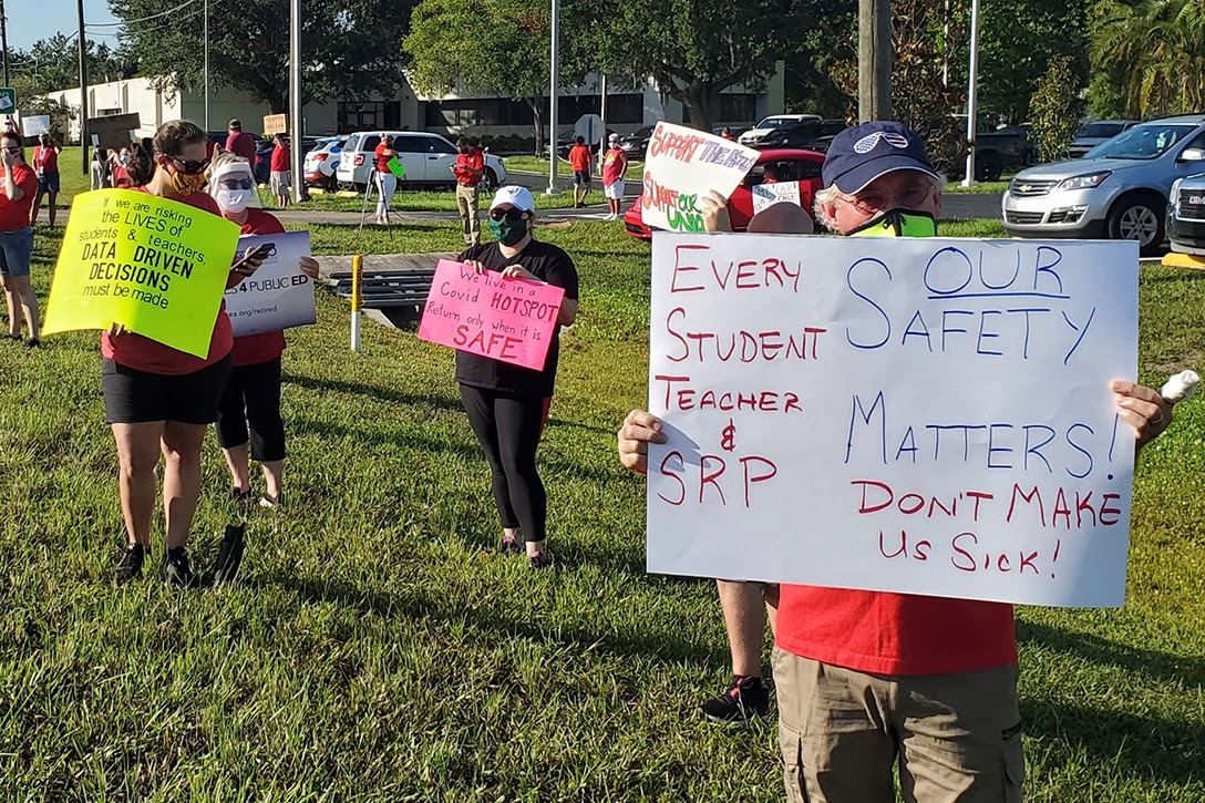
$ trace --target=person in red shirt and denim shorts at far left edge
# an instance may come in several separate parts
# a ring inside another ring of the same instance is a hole
[[[25,164],[25,148],[20,136],[7,133],[0,136],[0,165],[4,184],[0,187],[0,283],[8,311],[7,340],[20,340],[20,315],[25,316],[29,340],[36,347],[37,294],[29,283],[29,268],[34,256],[34,227],[29,221],[37,177]]]

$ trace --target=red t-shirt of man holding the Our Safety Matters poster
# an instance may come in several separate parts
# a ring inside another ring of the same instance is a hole
[[[778,649],[854,672],[931,675],[1017,662],[1012,605],[783,585]]]

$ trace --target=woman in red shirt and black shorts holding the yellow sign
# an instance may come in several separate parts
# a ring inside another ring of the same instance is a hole
[[[153,141],[143,140],[131,148],[130,178],[140,192],[221,215],[217,203],[201,192],[208,166],[207,142],[208,136],[195,123],[182,119],[164,123]],[[198,263],[194,270],[223,271],[229,288],[258,266],[258,260],[237,268]],[[105,417],[117,441],[122,514],[129,541],[117,562],[118,582],[140,576],[151,552],[155,465],[161,451],[166,520],[161,578],[170,585],[194,585],[187,545],[201,492],[201,444],[208,424],[218,417],[218,399],[230,374],[233,341],[225,304],[218,309],[205,357],[128,333],[118,323],[101,334]]]

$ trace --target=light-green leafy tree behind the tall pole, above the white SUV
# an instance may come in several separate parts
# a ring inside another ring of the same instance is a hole
[[[535,121],[536,153],[543,153],[551,13],[551,6],[536,7],[529,0],[423,0],[402,45],[410,57],[407,77],[428,95],[459,87],[525,101]],[[559,68],[564,83],[584,75],[574,64],[575,30],[562,28],[562,51],[568,54]]]

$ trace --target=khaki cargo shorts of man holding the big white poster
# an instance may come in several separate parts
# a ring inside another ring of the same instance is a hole
[[[870,675],[775,649],[792,803],[1021,803],[1017,664]]]

